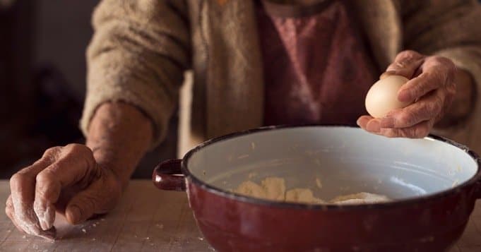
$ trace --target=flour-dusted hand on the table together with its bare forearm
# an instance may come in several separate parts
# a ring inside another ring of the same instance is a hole
[[[11,177],[6,214],[20,231],[54,239],[55,212],[71,224],[109,212],[152,136],[150,119],[136,107],[102,104],[90,122],[85,145],[50,148]]]

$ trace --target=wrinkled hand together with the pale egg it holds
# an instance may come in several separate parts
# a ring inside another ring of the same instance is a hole
[[[427,136],[453,100],[455,73],[449,59],[400,52],[367,94],[371,116],[361,116],[357,124],[387,137]]]

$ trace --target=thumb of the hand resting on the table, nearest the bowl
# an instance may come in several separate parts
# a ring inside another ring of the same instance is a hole
[[[114,208],[121,195],[120,187],[114,183],[117,182],[99,179],[90,184],[69,201],[65,211],[66,219],[71,224],[78,224]]]

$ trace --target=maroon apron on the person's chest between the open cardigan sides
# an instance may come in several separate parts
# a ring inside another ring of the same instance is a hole
[[[343,1],[257,4],[264,124],[355,124],[376,68]]]

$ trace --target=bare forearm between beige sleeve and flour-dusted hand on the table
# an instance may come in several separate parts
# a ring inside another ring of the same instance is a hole
[[[122,188],[149,148],[153,128],[136,107],[121,102],[102,104],[90,122],[86,145],[97,163],[111,169]]]

